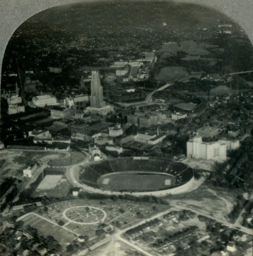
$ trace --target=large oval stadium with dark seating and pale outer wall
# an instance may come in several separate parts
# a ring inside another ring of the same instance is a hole
[[[97,193],[158,196],[188,190],[194,175],[189,166],[171,159],[122,157],[83,167],[79,179]]]

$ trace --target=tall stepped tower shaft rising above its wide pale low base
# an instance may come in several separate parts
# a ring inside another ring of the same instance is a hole
[[[105,102],[103,101],[103,87],[100,83],[98,71],[92,71],[90,89],[90,106],[96,108],[104,107]]]

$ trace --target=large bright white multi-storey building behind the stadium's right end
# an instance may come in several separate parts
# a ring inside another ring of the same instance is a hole
[[[201,136],[195,136],[187,142],[187,157],[204,159],[226,159],[226,144],[202,142]]]

